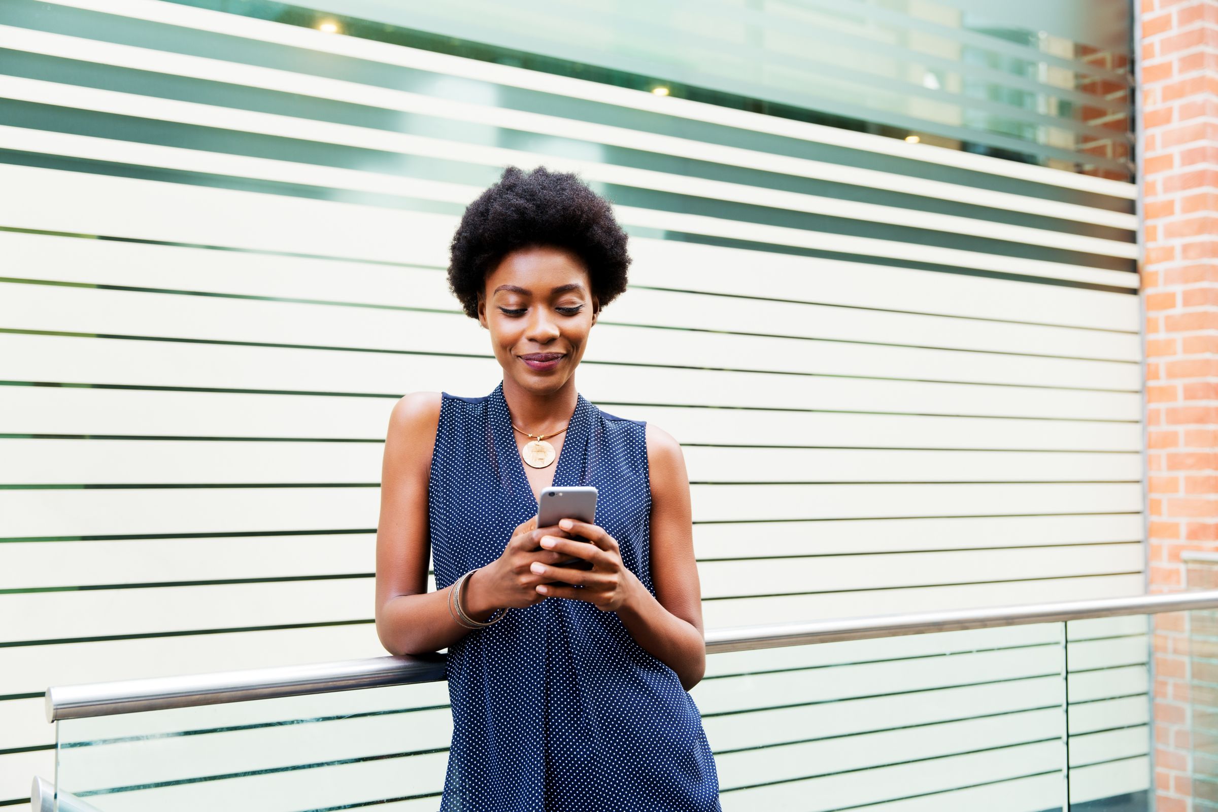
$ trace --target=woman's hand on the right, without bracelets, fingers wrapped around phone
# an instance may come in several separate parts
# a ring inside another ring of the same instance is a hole
[[[537,584],[537,592],[547,598],[571,598],[572,600],[586,600],[603,612],[615,612],[633,600],[636,589],[642,589],[643,583],[621,560],[621,550],[618,539],[607,533],[603,527],[588,525],[587,522],[564,519],[558,526],[581,538],[592,542],[582,542],[574,538],[558,538],[557,536],[543,536],[542,548],[555,550],[571,558],[583,559],[592,564],[591,570],[576,570],[572,567],[558,567],[533,561],[532,571],[538,575],[553,577],[570,587],[554,583]]]

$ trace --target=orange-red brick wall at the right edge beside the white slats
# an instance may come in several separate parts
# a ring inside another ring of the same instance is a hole
[[[1141,0],[1150,590],[1218,549],[1218,0]],[[1194,578],[1195,579],[1195,578]],[[1188,637],[1155,634],[1157,812],[1191,810]]]

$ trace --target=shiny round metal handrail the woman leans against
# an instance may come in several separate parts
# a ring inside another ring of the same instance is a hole
[[[1166,595],[1102,598],[1052,604],[879,615],[812,623],[717,628],[706,632],[706,654],[878,637],[1050,623],[1121,615],[1218,609],[1218,589]],[[135,713],[255,699],[325,694],[445,679],[441,654],[395,655],[180,677],[57,685],[46,690],[46,721]]]

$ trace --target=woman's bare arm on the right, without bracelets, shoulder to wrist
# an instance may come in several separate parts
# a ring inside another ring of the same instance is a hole
[[[655,595],[637,589],[635,599],[621,606],[618,616],[635,640],[677,672],[682,687],[689,690],[706,672],[689,475],[681,446],[652,424],[647,425],[647,460],[652,480]]]

